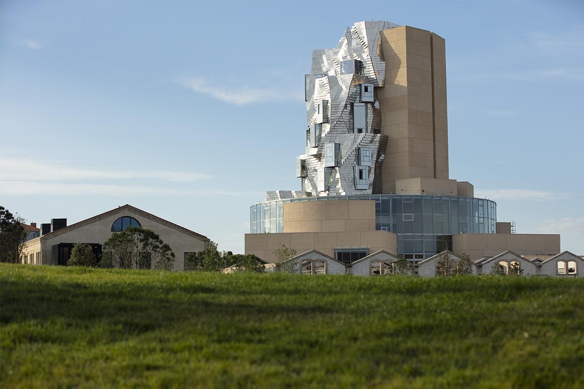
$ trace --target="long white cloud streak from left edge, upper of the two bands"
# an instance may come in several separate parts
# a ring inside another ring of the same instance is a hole
[[[208,174],[183,171],[91,169],[81,166],[68,166],[67,164],[40,162],[34,159],[0,157],[0,180],[22,180],[27,177],[34,177],[37,181],[156,178],[180,182],[211,178]]]

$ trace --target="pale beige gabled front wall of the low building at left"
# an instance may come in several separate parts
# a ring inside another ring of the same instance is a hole
[[[54,264],[57,258],[53,258],[52,247],[59,243],[99,243],[103,244],[110,236],[112,236],[112,224],[121,216],[131,216],[140,222],[143,228],[151,229],[157,233],[164,243],[171,246],[173,253],[176,255],[175,270],[183,270],[185,268],[184,253],[192,253],[204,250],[206,242],[197,237],[180,232],[179,230],[159,223],[155,220],[149,219],[144,215],[129,211],[128,209],[121,209],[120,212],[114,212],[107,215],[105,218],[96,220],[92,223],[73,228],[65,233],[51,236],[47,234],[41,237],[43,240],[43,263]],[[57,232],[58,233],[58,232]]]

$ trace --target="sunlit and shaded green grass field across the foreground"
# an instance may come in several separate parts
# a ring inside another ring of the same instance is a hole
[[[584,279],[0,264],[2,388],[582,388]]]

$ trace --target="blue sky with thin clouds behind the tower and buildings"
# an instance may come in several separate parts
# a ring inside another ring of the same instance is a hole
[[[242,253],[249,206],[300,189],[312,50],[380,19],[446,39],[450,178],[584,254],[584,2],[2,1],[0,204]]]

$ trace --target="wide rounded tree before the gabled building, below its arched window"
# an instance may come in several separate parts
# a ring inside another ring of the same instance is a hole
[[[142,227],[129,226],[125,231],[114,232],[103,248],[105,262],[111,262],[112,267],[171,270],[175,263],[171,247],[157,233]]]

